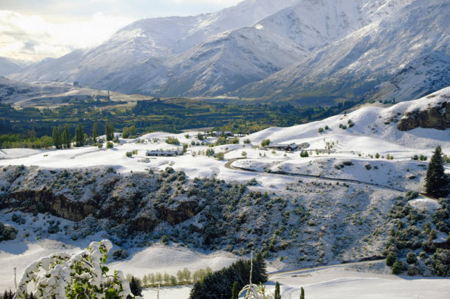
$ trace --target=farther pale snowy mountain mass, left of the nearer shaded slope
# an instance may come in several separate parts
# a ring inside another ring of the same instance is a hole
[[[411,1],[247,0],[212,14],[145,19],[97,48],[12,78],[149,95],[221,95],[304,61]]]

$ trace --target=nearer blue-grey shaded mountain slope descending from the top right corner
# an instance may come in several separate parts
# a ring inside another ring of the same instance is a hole
[[[439,61],[450,54],[449,19],[448,1],[414,1],[392,15],[318,50],[306,61],[245,86],[236,94],[244,97],[293,98],[303,103],[311,98],[355,98],[388,81],[406,65],[420,61],[421,57],[425,59],[433,52],[439,53],[442,58],[433,59],[436,63],[425,73],[441,73],[438,70],[442,67]],[[411,86],[419,77],[416,74],[404,84]],[[442,79],[445,77],[442,76]],[[430,87],[418,84],[415,87],[417,93],[411,92],[407,96],[411,98],[411,95],[421,95],[419,90],[433,91],[449,84],[449,81]],[[390,96],[395,97],[395,94]]]

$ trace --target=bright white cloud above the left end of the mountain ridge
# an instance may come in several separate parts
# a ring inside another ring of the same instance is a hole
[[[77,48],[97,46],[132,21],[100,12],[81,21],[57,23],[0,10],[0,56],[35,61],[60,57]]]

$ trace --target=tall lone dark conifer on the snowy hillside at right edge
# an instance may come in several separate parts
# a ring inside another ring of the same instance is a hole
[[[449,194],[449,176],[444,173],[444,159],[440,146],[436,147],[426,171],[425,189],[426,193],[435,197]]]

